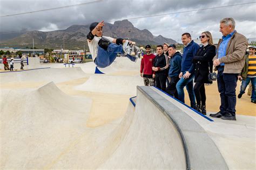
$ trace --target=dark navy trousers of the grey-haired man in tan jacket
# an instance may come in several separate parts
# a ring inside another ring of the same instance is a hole
[[[229,112],[235,116],[235,105],[237,104],[235,88],[237,87],[238,74],[227,74],[223,71],[224,67],[218,68],[217,83],[220,93],[220,112],[223,115]]]

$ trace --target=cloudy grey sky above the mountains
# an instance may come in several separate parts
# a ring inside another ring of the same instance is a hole
[[[93,1],[99,2],[46,10]],[[247,38],[254,38],[256,37],[255,2],[255,0],[0,0],[0,32],[64,30],[74,24],[86,25],[101,20],[113,23],[114,20],[129,19],[140,30],[147,29],[155,36],[161,34],[181,42],[181,34],[184,32],[190,32],[193,38],[197,38],[202,31],[210,31],[213,38],[220,38],[219,20],[232,17],[235,19],[235,29],[238,32]],[[244,5],[208,9],[234,4]],[[38,10],[44,11],[6,16]],[[166,13],[174,14],[154,16]]]

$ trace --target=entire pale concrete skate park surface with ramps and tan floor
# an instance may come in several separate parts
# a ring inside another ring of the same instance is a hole
[[[144,87],[140,60],[117,58],[99,68],[105,74],[93,62],[29,61],[0,73],[1,169],[255,169],[256,110],[246,94],[237,121],[224,121],[208,116],[219,111],[216,82],[206,86],[204,117]]]

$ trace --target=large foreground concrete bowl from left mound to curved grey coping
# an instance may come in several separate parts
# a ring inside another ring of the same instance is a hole
[[[86,126],[90,99],[53,82],[1,89],[1,169],[228,169],[190,116],[152,87],[137,89],[135,108],[97,128]]]

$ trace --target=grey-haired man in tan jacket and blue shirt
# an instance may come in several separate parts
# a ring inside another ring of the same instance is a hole
[[[238,74],[245,65],[245,52],[248,45],[247,39],[235,29],[233,18],[220,20],[220,32],[223,34],[217,47],[217,54],[213,58],[213,65],[218,70],[217,83],[220,93],[220,111],[210,114],[230,121],[235,121],[235,105],[237,97]]]

